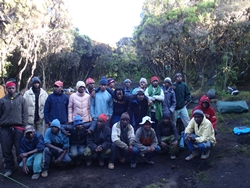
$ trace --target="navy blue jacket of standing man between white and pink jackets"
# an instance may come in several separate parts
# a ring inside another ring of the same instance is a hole
[[[58,119],[61,124],[66,124],[68,122],[68,104],[69,98],[63,92],[50,94],[44,106],[45,123]]]

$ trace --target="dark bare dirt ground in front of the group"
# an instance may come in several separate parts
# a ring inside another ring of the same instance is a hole
[[[189,105],[192,108],[196,104]],[[184,159],[188,150],[181,151],[176,160],[170,160],[167,154],[159,154],[153,160],[155,165],[150,166],[139,162],[136,169],[130,169],[129,162],[115,164],[114,170],[99,167],[98,162],[86,167],[80,166],[51,167],[49,177],[31,180],[31,174],[25,175],[22,169],[16,167],[11,176],[13,180],[4,178],[2,154],[0,153],[0,187],[62,187],[62,188],[241,188],[250,185],[250,136],[236,136],[233,127],[241,125],[241,119],[234,122],[224,122],[223,134],[216,136],[217,145],[211,150],[207,160],[196,158],[190,162]]]

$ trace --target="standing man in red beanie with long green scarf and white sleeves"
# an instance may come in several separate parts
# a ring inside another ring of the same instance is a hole
[[[152,104],[149,106],[149,116],[154,122],[152,128],[156,130],[157,124],[162,120],[162,102],[164,101],[164,93],[161,87],[159,86],[159,78],[153,76],[151,78],[151,84],[145,91],[145,95],[152,101]]]

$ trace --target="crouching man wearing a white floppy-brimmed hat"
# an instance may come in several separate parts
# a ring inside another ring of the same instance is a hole
[[[158,140],[154,129],[151,127],[151,124],[154,123],[151,121],[149,116],[142,118],[142,125],[135,134],[135,146],[136,152],[140,155],[145,162],[148,164],[154,165],[154,162],[151,160],[155,157],[161,150],[158,146]],[[131,164],[131,168],[136,168],[136,163]]]

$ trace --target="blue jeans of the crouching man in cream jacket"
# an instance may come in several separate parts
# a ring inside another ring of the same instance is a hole
[[[198,137],[195,134],[191,134],[191,136],[194,137],[194,138]],[[184,135],[184,138],[186,138],[186,134]],[[190,151],[194,151],[197,148],[201,152],[207,152],[212,147],[212,144],[211,144],[211,142],[209,140],[206,141],[206,142],[202,142],[202,143],[193,143],[191,141],[186,141],[185,140],[185,143],[186,143],[186,145],[187,145],[187,147],[188,147],[188,149]]]

